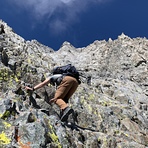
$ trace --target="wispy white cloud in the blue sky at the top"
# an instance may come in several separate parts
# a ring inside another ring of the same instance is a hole
[[[79,21],[79,15],[90,4],[103,1],[110,0],[13,0],[13,4],[27,10],[36,21],[46,19],[50,29],[57,33]]]

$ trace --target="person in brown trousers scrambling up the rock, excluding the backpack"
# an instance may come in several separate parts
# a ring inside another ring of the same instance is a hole
[[[64,67],[64,66],[63,66]],[[34,91],[47,84],[58,85],[54,98],[52,98],[49,103],[55,103],[60,108],[60,119],[62,122],[67,121],[68,116],[73,112],[73,109],[68,106],[68,100],[76,91],[79,80],[72,76],[71,74],[58,74],[54,72],[52,76],[46,78],[43,82],[34,86],[33,88],[26,86],[27,90]]]

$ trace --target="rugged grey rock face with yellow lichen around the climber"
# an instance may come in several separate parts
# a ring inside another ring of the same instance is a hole
[[[148,148],[146,38],[121,34],[83,48],[64,42],[54,51],[0,24],[0,147]],[[58,107],[48,104],[54,87],[24,90],[67,63],[82,74],[69,102],[77,115],[71,125],[63,125]]]

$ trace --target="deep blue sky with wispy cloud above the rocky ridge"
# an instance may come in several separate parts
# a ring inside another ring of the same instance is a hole
[[[148,38],[148,0],[1,0],[0,19],[54,50],[64,41],[85,47],[122,32]]]

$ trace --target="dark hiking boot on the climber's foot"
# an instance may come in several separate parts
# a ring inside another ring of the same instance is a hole
[[[68,116],[73,112],[73,109],[70,107],[66,107],[62,112],[60,113],[60,118],[62,122],[67,121]]]

